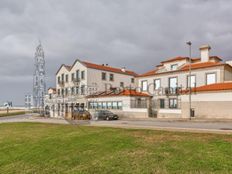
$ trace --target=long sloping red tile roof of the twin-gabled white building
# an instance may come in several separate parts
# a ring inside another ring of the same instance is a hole
[[[110,66],[106,66],[106,65],[99,65],[99,64],[86,62],[86,61],[81,61],[81,63],[83,63],[87,68],[99,69],[99,70],[103,70],[103,71],[110,71],[110,72],[114,72],[114,73],[126,74],[126,75],[131,75],[131,76],[138,75],[133,71],[129,71],[129,70],[122,71],[122,69],[120,69],[120,68],[114,68],[114,67],[110,67]]]

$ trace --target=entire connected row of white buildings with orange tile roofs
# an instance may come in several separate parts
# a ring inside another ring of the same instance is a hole
[[[56,73],[56,88],[49,89],[46,96],[50,116],[71,118],[74,108],[81,107],[91,112],[96,109],[112,110],[121,117],[130,118],[188,118],[191,93],[194,116],[214,117],[211,112],[207,115],[200,109],[212,99],[207,97],[208,101],[204,103],[203,96],[214,96],[212,101],[216,103],[212,106],[220,104],[220,108],[225,108],[215,113],[221,115],[218,116],[220,118],[230,118],[228,115],[232,109],[229,109],[231,103],[227,98],[232,90],[232,87],[228,89],[232,82],[232,63],[210,56],[210,49],[209,45],[204,45],[200,47],[199,58],[167,59],[141,75],[125,68],[81,60],[76,60],[72,66],[62,65]],[[197,90],[215,84],[221,84],[221,90],[215,89],[213,93],[205,90],[204,94]],[[123,95],[125,90],[129,91],[127,95]],[[115,94],[115,91],[118,93]],[[223,100],[223,96],[227,101],[225,105],[218,101],[219,98]]]

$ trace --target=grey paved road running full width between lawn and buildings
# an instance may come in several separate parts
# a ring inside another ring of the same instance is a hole
[[[142,128],[171,131],[213,132],[232,134],[232,121],[177,121],[177,120],[117,120],[117,121],[66,121],[64,119],[41,118],[31,114],[0,117],[0,123],[5,122],[42,122],[55,124],[82,124],[89,126]]]

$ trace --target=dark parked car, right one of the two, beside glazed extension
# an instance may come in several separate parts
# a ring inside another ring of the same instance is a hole
[[[94,120],[118,120],[118,115],[108,110],[97,110],[93,114]]]

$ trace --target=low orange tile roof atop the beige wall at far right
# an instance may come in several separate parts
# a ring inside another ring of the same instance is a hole
[[[192,92],[209,92],[209,91],[225,91],[232,90],[232,82],[215,83],[211,85],[200,86],[192,89]],[[189,90],[184,90],[182,93],[188,93]]]

